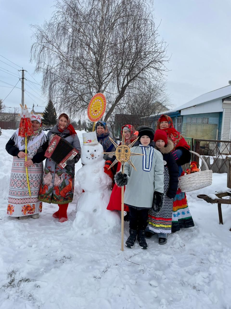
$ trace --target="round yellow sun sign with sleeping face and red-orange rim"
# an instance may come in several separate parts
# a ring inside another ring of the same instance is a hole
[[[96,93],[91,98],[87,108],[87,116],[90,121],[94,122],[92,132],[95,131],[95,122],[99,121],[103,117],[106,110],[106,105],[106,98],[101,92]]]

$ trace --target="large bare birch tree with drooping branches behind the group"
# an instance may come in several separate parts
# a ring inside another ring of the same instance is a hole
[[[145,0],[57,1],[50,21],[32,27],[43,91],[71,116],[103,92],[107,121],[128,92],[163,77],[166,45]]]

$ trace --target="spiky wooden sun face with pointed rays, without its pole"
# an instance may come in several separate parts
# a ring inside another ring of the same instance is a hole
[[[109,137],[110,138],[110,137]],[[120,162],[122,165],[122,173],[124,172],[124,163],[128,162],[135,170],[136,167],[133,165],[133,163],[131,162],[131,156],[132,155],[143,155],[143,154],[137,154],[131,151],[132,146],[135,144],[135,142],[138,140],[138,138],[135,139],[135,141],[133,141],[130,145],[125,145],[125,138],[124,138],[124,132],[123,132],[123,136],[122,136],[122,143],[121,145],[116,144],[115,141],[113,141],[112,138],[110,138],[112,144],[115,146],[115,151],[112,152],[104,152],[104,154],[107,155],[115,155],[115,161],[110,165],[109,168],[111,168],[113,165],[115,165],[117,162]]]

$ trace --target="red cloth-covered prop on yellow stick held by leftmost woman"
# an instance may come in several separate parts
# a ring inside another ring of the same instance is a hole
[[[25,153],[27,154],[27,136],[33,135],[34,130],[32,128],[32,122],[30,120],[30,112],[28,111],[26,104],[25,106],[22,106],[22,104],[20,104],[20,106],[22,108],[22,113],[21,113],[19,129],[18,129],[18,135],[25,138],[25,147],[26,147]],[[25,157],[25,161],[27,161],[26,157]],[[26,167],[26,179],[27,179],[29,195],[31,196],[27,167]]]

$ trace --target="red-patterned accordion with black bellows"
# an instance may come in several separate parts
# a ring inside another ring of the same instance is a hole
[[[64,168],[67,165],[67,160],[75,158],[78,153],[79,151],[64,138],[55,135],[44,156],[54,161],[59,167]]]

